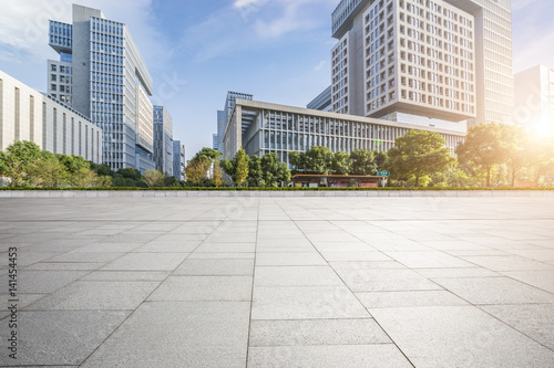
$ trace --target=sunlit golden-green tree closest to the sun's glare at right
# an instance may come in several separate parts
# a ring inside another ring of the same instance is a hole
[[[505,129],[500,124],[474,125],[468,129],[465,140],[455,149],[460,164],[471,175],[479,175],[479,170],[486,174],[486,187],[491,186],[493,167],[507,159],[510,143],[504,138]]]

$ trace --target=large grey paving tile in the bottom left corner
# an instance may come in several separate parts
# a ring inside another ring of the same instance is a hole
[[[20,311],[18,359],[0,366],[79,366],[129,315],[114,311]],[[8,324],[1,324],[8,336]]]

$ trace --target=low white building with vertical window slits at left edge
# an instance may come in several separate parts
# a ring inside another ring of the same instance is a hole
[[[0,71],[0,150],[28,140],[52,154],[102,162],[102,130],[75,109]]]

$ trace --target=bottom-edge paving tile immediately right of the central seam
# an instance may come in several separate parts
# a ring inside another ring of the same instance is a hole
[[[412,366],[394,345],[382,344],[250,347],[248,367],[408,368]]]

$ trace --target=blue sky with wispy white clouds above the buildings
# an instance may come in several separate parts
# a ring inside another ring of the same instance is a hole
[[[0,70],[44,91],[48,19],[70,0],[0,0]],[[330,14],[339,0],[81,0],[127,24],[192,157],[212,146],[227,91],[305,106],[330,83]],[[554,3],[513,0],[514,70],[554,67]]]

